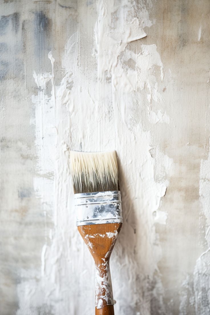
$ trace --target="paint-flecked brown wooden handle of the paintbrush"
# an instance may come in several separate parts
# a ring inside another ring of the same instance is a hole
[[[114,315],[109,259],[121,227],[122,223],[78,226],[78,231],[95,261],[95,314],[97,315]]]

